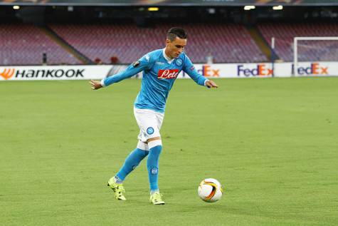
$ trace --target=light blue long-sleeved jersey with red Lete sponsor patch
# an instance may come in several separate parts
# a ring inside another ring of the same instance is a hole
[[[147,53],[139,61],[128,66],[125,71],[102,79],[101,84],[109,86],[143,71],[141,91],[137,95],[134,107],[164,113],[169,91],[182,70],[196,83],[205,86],[207,79],[196,71],[185,53],[170,60],[165,56],[164,49]]]

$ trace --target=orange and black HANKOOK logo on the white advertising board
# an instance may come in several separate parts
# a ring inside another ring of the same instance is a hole
[[[85,69],[37,69],[37,70],[16,70],[14,68],[5,68],[0,73],[4,79],[9,78],[84,78]]]

